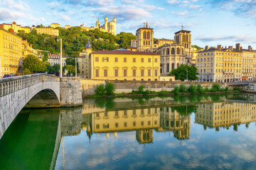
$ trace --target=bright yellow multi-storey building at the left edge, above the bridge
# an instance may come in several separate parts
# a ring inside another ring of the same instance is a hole
[[[21,37],[0,28],[0,74],[16,74],[22,61]]]

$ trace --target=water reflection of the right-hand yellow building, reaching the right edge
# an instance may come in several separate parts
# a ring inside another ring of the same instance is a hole
[[[203,125],[205,130],[208,127],[218,131],[220,128],[229,129],[233,125],[233,129],[238,131],[238,125],[245,124],[248,127],[249,123],[255,121],[255,103],[202,103],[198,105],[195,115],[195,122]]]

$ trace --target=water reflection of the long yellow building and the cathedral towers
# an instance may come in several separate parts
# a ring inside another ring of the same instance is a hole
[[[133,103],[137,102],[133,101]],[[93,133],[105,133],[106,137],[113,133],[114,137],[117,137],[118,132],[136,131],[136,140],[140,144],[153,142],[154,130],[173,132],[178,140],[188,139],[190,115],[196,111],[196,106],[181,106],[179,109],[185,112],[178,113],[178,109],[165,106],[163,103],[155,105],[147,106],[144,102],[140,105],[137,103],[135,106],[128,105],[128,107],[117,103],[111,105],[114,107],[107,109],[88,101],[83,106],[82,129],[86,130],[89,139]],[[186,113],[187,110],[189,113]]]

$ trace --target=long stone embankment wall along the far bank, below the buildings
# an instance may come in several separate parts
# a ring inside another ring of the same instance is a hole
[[[82,97],[95,94],[95,89],[100,84],[107,84],[107,82],[114,84],[114,93],[122,94],[129,93],[132,90],[138,90],[139,86],[144,86],[144,89],[149,89],[150,91],[172,91],[175,86],[180,86],[181,84],[186,85],[187,87],[193,85],[201,84],[203,87],[208,86],[211,88],[213,82],[184,82],[184,81],[122,81],[122,80],[95,80],[95,79],[81,79],[81,91]],[[221,87],[225,87],[225,83],[218,83]]]

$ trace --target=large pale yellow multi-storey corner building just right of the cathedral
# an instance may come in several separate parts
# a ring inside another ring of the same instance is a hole
[[[199,81],[230,82],[242,79],[242,52],[233,47],[208,47],[196,56]]]

